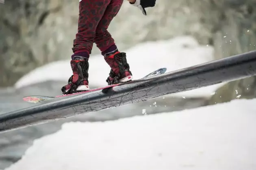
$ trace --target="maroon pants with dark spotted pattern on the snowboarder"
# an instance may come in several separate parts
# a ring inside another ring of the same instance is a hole
[[[122,4],[123,0],[82,0],[79,3],[78,33],[74,39],[73,52],[91,54],[93,43],[101,51],[114,45],[107,28]]]

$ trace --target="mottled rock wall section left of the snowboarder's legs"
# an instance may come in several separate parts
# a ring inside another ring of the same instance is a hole
[[[50,61],[69,58],[78,1],[11,0],[0,5],[0,86]]]

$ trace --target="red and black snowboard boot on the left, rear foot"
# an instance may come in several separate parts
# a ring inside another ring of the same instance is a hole
[[[70,65],[73,75],[69,78],[68,84],[61,88],[63,95],[89,90],[88,58],[75,56],[73,60],[70,61]]]

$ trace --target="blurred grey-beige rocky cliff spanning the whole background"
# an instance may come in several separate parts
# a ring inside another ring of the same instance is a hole
[[[119,49],[179,35],[193,35],[200,44],[213,45],[217,59],[255,49],[254,0],[157,0],[147,11],[144,16],[124,1],[109,27]],[[47,62],[69,58],[77,19],[78,0],[9,0],[0,4],[0,86],[12,85]],[[94,46],[93,53],[98,52]],[[254,78],[228,86],[245,93],[247,81],[255,91]],[[226,100],[231,94],[234,96],[234,89]],[[213,97],[215,100],[219,97]]]

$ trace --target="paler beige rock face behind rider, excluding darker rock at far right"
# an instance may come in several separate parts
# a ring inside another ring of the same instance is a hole
[[[206,43],[210,34],[195,10],[199,3],[162,0],[148,8],[144,16],[125,0],[109,31],[120,50],[184,34]],[[77,21],[78,0],[9,0],[1,4],[0,86],[11,86],[22,75],[48,62],[69,58]],[[92,54],[99,52],[94,45]]]

